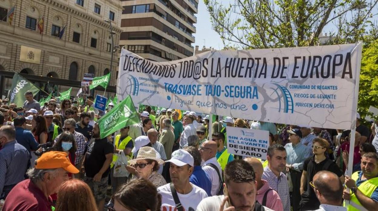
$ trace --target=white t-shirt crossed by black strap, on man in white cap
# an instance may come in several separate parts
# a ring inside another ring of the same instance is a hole
[[[184,207],[185,211],[195,211],[197,205],[202,199],[208,197],[206,191],[202,188],[193,185],[193,189],[188,194],[177,193],[178,199],[180,199],[181,205]],[[158,192],[161,194],[161,210],[163,211],[173,211],[175,209],[175,200],[172,197],[172,192],[170,191],[170,184],[166,184],[158,187]]]

